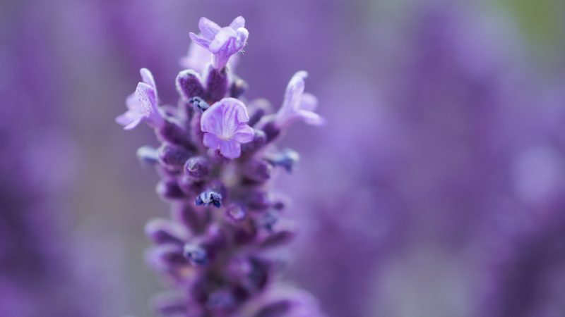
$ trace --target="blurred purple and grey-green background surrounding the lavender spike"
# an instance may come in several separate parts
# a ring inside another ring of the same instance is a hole
[[[1,0],[0,316],[153,316],[157,175],[121,130],[189,32],[246,19],[237,74],[275,107],[308,70],[326,127],[280,175],[286,278],[331,317],[565,316],[565,2]]]

